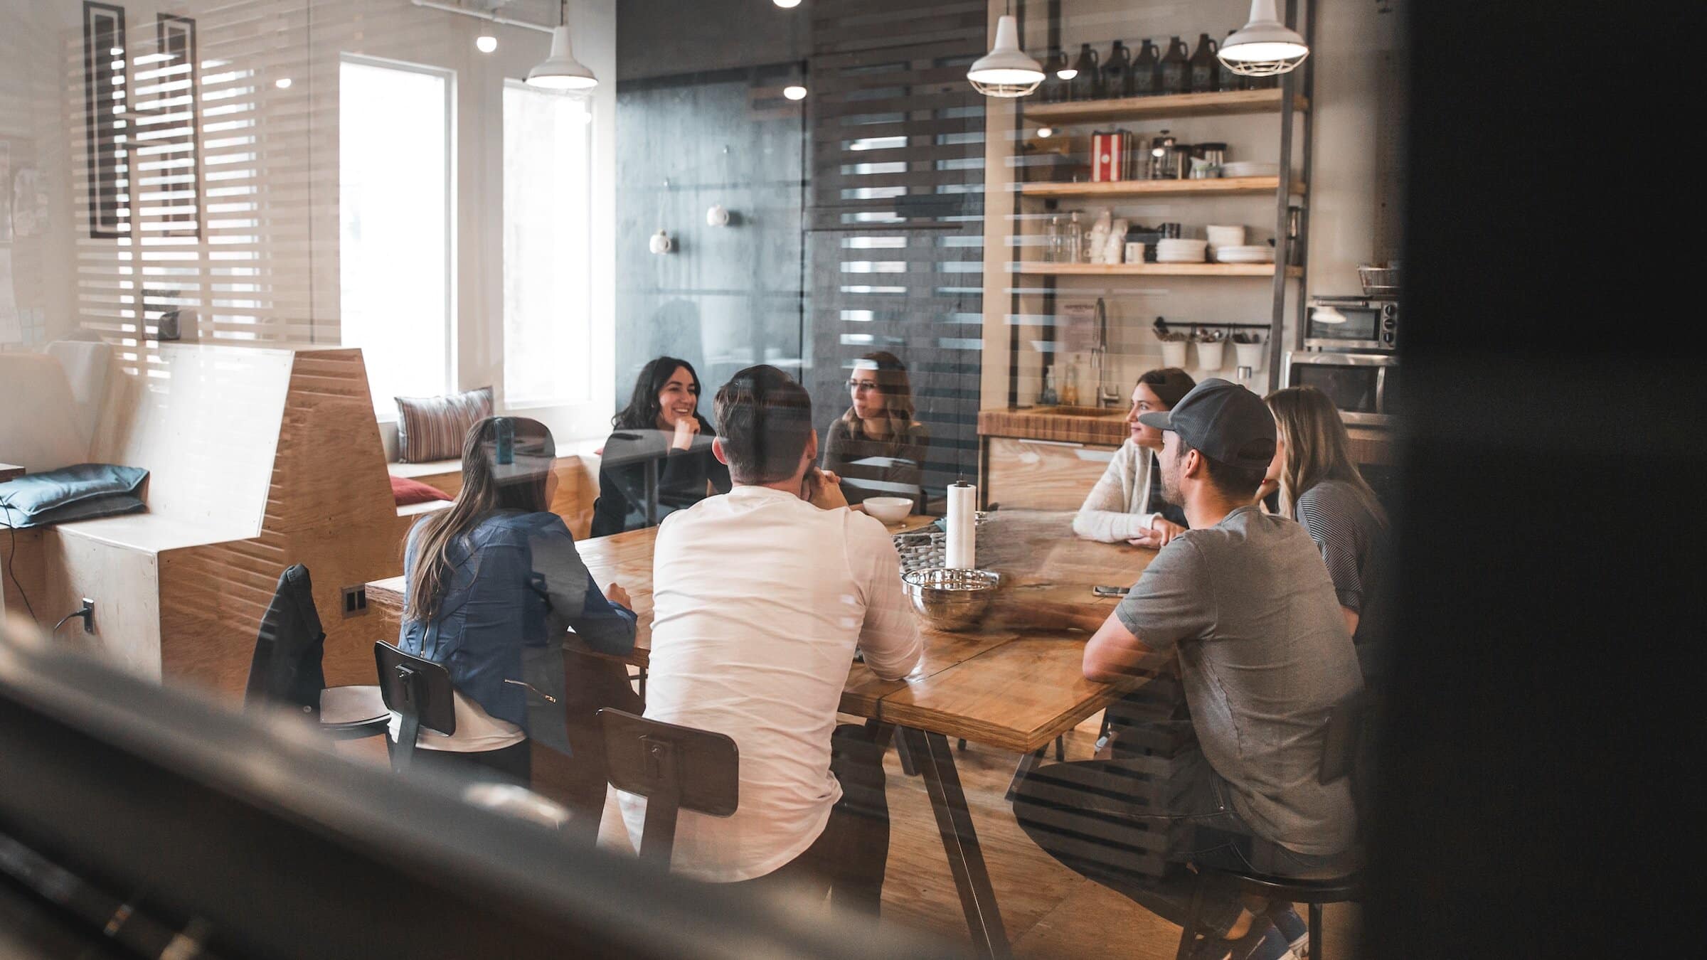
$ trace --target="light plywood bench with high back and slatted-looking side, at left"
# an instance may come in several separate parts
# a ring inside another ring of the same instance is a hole
[[[236,697],[278,574],[306,564],[328,683],[372,683],[377,618],[345,618],[341,588],[399,574],[413,516],[391,497],[360,350],[116,347],[87,460],[147,468],[149,512],[19,536],[38,618],[96,603],[94,635],[72,623],[63,641]]]

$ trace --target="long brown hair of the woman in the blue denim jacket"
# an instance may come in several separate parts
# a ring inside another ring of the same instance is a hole
[[[507,442],[514,437],[514,442]],[[504,441],[504,442],[500,442]],[[504,449],[509,448],[509,449]],[[415,536],[403,618],[428,622],[439,615],[451,579],[451,545],[493,511],[545,512],[545,489],[556,444],[551,430],[526,417],[486,417],[463,439],[463,490],[449,509],[428,516]]]

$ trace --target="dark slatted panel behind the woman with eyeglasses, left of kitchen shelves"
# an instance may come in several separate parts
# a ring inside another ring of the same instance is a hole
[[[809,388],[828,422],[859,355],[901,357],[935,497],[978,460],[987,26],[983,0],[813,5]]]

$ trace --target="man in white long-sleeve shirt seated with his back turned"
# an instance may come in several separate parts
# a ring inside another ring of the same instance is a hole
[[[855,644],[886,680],[918,663],[900,557],[876,518],[813,465],[811,398],[770,366],[717,391],[734,489],[673,512],[652,567],[649,719],[725,733],[734,817],[683,811],[671,866],[714,883],[823,893],[876,916],[889,846],[883,752],[836,726]],[[638,842],[645,799],[618,794]]]

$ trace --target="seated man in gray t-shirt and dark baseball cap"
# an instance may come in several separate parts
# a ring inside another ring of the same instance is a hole
[[[1091,680],[1176,663],[1197,748],[1040,767],[1014,813],[1067,866],[1183,922],[1195,880],[1154,869],[1159,852],[1279,875],[1347,866],[1357,832],[1350,784],[1321,784],[1318,772],[1328,717],[1362,678],[1314,541],[1251,506],[1275,449],[1263,401],[1209,379],[1169,413],[1145,417],[1166,430],[1162,492],[1185,506],[1191,530],[1106,618],[1036,601],[1002,610],[1094,630],[1084,653]],[[1302,940],[1290,905],[1243,900],[1232,888],[1205,895],[1202,922],[1222,936],[1203,945],[1217,958],[1279,960]]]

